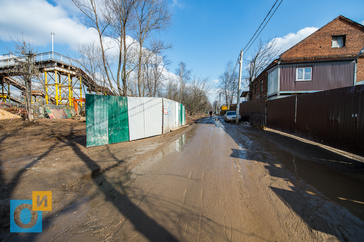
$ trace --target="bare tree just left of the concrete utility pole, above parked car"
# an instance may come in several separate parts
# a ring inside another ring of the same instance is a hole
[[[238,77],[238,72],[234,71],[233,61],[227,61],[224,72],[218,76],[219,89],[225,96],[226,106],[231,106],[233,98],[237,93]]]

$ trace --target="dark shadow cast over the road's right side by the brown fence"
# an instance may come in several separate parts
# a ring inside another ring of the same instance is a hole
[[[223,128],[242,147],[232,149],[231,157],[263,162],[270,176],[294,184],[292,190],[271,189],[312,229],[355,240],[357,230],[347,223],[364,226],[364,193],[358,192],[364,187],[364,163],[267,130],[235,124]]]

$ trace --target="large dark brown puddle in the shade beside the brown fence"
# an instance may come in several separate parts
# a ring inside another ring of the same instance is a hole
[[[313,186],[312,190],[305,189],[306,193],[329,198],[346,207],[351,213],[364,221],[364,193],[362,191],[364,174],[357,172],[341,172],[312,160],[302,159],[284,150],[269,150],[275,153],[279,162],[273,164],[277,169],[284,168],[289,171],[290,181],[300,186],[300,179]],[[351,165],[351,162],[332,160]],[[354,161],[353,162],[357,162]],[[297,179],[298,178],[298,179]],[[316,190],[316,191],[315,191]]]

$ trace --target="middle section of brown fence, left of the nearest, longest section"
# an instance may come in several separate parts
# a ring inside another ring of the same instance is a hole
[[[296,96],[267,101],[266,127],[294,135]]]

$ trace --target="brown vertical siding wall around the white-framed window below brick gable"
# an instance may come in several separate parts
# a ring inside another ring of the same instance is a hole
[[[311,81],[295,81],[296,68],[312,67]],[[316,91],[352,86],[355,63],[281,66],[280,91]]]

